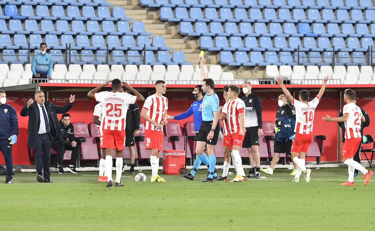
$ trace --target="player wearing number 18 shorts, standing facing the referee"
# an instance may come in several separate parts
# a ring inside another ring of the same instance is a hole
[[[166,92],[166,84],[163,80],[155,82],[156,93],[146,98],[141,116],[146,120],[145,140],[146,149],[151,149],[151,182],[165,182],[157,174],[159,169],[159,156],[163,148],[163,125],[168,123],[168,99],[163,96]]]

